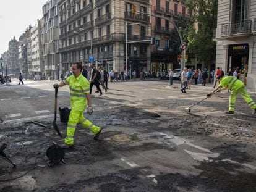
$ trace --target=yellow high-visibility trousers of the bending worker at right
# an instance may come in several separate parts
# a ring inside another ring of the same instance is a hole
[[[239,90],[231,91],[229,96],[229,111],[234,111],[234,104],[236,102],[237,94],[240,93],[242,98],[247,102],[247,104],[252,107],[252,109],[256,109],[256,103],[250,98],[250,95],[247,93],[245,86],[242,86]]]

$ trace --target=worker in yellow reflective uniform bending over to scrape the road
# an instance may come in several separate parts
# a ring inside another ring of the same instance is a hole
[[[210,98],[211,94],[215,91],[226,90],[227,88],[231,90],[231,94],[229,96],[229,111],[226,111],[226,114],[234,114],[234,104],[236,102],[236,96],[238,93],[241,94],[242,98],[247,102],[247,104],[254,109],[252,114],[256,114],[256,103],[250,98],[250,95],[247,93],[244,82],[237,79],[236,77],[226,76],[221,78],[221,76],[217,77],[219,81],[218,87],[216,87],[211,93],[207,94],[207,97]]]

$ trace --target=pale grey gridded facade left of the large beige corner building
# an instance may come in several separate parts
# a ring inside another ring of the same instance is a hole
[[[43,75],[59,79],[59,7],[57,0],[43,5],[41,22],[41,46]]]

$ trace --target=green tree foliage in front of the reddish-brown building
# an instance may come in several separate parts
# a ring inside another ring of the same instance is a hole
[[[218,0],[187,0],[186,6],[189,12],[194,13],[195,22],[198,23],[197,33],[193,27],[189,27],[184,34],[187,35],[189,51],[199,61],[211,63],[216,53],[216,43],[212,38],[217,23]]]

